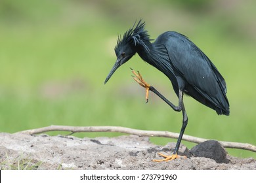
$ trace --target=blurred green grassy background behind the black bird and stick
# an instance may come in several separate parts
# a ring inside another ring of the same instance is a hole
[[[168,99],[169,80],[139,56],[104,79],[116,61],[114,46],[143,18],[152,39],[178,31],[195,42],[224,76],[230,116],[218,116],[191,97],[185,134],[256,144],[256,1],[0,1],[0,130],[14,133],[47,125],[120,125],[179,133],[182,114],[135,83],[129,67]],[[56,135],[62,132],[49,133]],[[66,134],[66,133],[62,133]],[[77,137],[120,133],[79,133]],[[154,137],[156,144],[176,142]],[[195,144],[184,142],[191,148]],[[245,150],[228,150],[253,157]]]

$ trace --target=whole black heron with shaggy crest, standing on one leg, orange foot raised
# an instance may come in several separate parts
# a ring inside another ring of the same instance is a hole
[[[135,21],[133,27],[129,28],[123,34],[123,37],[121,35],[117,37],[117,44],[114,48],[117,56],[116,63],[114,63],[104,84],[108,82],[121,65],[136,53],[139,54],[142,60],[169,78],[179,99],[177,106],[161,95],[156,88],[148,84],[139,71],[136,73],[132,69],[133,74],[135,74],[134,79],[142,87],[146,88],[146,102],[148,101],[148,92],[151,91],[165,101],[173,110],[182,112],[182,127],[173,154],[158,153],[163,159],[153,159],[153,161],[157,162],[169,161],[181,158],[178,155],[179,146],[188,124],[183,95],[189,95],[196,101],[215,110],[219,115],[228,116],[230,114],[230,106],[226,97],[226,82],[217,67],[188,37],[176,31],[166,31],[154,41],[150,39],[145,25],[146,23],[142,19],[138,23]]]

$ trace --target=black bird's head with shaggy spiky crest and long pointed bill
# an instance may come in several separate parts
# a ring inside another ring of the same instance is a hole
[[[117,45],[115,47],[117,57],[116,63],[106,77],[104,84],[108,82],[108,80],[115,73],[118,67],[123,65],[123,63],[127,62],[136,54],[138,46],[143,46],[149,52],[148,47],[144,43],[145,41],[150,41],[149,35],[144,29],[145,22],[142,22],[142,20],[140,20],[136,26],[135,24],[133,24],[133,27],[131,29],[124,33],[123,37],[118,37]]]

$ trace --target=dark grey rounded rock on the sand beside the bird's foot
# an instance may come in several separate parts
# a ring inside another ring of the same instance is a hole
[[[218,141],[205,141],[194,146],[190,153],[193,156],[214,159],[217,163],[228,163],[226,159],[226,150]]]

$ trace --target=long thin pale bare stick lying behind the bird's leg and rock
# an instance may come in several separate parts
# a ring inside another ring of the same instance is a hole
[[[41,127],[37,129],[20,131],[17,133],[34,135],[38,133],[44,133],[47,131],[71,131],[72,133],[111,131],[111,132],[128,133],[128,134],[146,136],[146,137],[168,137],[173,139],[178,139],[179,137],[179,133],[173,133],[169,131],[147,131],[147,130],[131,129],[128,127],[119,127],[119,126],[87,126],[87,127],[76,126],[75,127],[75,126],[64,126],[64,125],[51,125],[51,126]],[[204,141],[208,141],[208,139],[202,139],[202,138],[193,137],[190,135],[183,135],[182,140],[188,141],[188,142],[194,142],[197,144]],[[254,146],[253,144],[239,143],[239,142],[224,142],[224,141],[219,141],[219,142],[223,145],[224,148],[237,148],[237,149],[256,152],[256,146]]]

